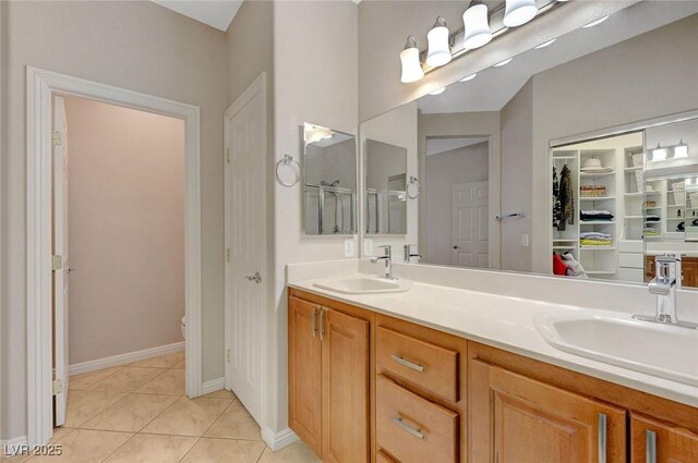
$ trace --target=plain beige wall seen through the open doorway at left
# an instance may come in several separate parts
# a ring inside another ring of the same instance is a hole
[[[184,121],[65,98],[70,364],[181,342]]]

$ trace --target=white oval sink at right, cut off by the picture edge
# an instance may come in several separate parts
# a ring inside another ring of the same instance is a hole
[[[698,387],[696,329],[593,310],[539,316],[535,328],[561,351]]]

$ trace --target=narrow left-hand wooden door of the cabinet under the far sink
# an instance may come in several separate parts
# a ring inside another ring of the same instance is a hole
[[[321,307],[296,297],[288,306],[289,426],[316,455],[322,451]]]

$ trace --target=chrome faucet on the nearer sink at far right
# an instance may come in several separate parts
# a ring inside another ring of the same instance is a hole
[[[681,321],[676,317],[676,278],[679,259],[675,256],[664,255],[654,258],[657,276],[650,281],[649,290],[657,295],[657,315],[634,315],[633,318],[640,321],[675,325],[684,328],[698,328],[698,324]]]

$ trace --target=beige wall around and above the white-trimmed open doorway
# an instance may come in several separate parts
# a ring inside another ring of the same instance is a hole
[[[152,2],[1,2],[2,438],[26,434],[25,66],[201,107],[203,379],[222,376],[226,36]],[[11,198],[11,200],[10,200]],[[218,340],[220,341],[218,342]],[[212,342],[213,340],[213,342]],[[5,361],[5,358],[3,358]]]

